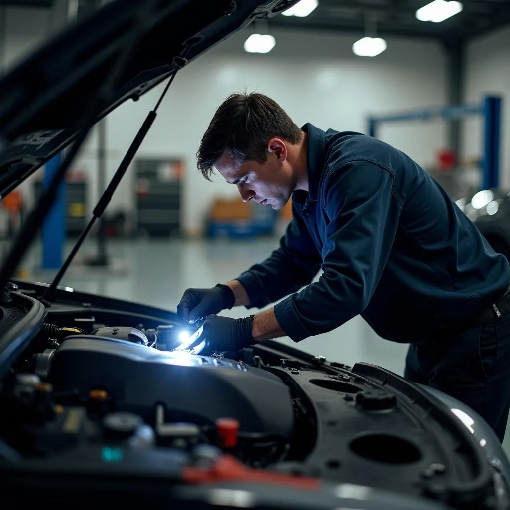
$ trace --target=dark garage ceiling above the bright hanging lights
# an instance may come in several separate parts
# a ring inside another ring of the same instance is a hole
[[[51,8],[53,3],[54,0],[0,0],[0,5],[18,7]],[[276,16],[269,20],[269,25],[359,33],[373,26],[375,20],[377,35],[381,36],[458,40],[510,24],[510,0],[462,0],[463,11],[442,23],[416,19],[416,11],[427,3],[429,0],[319,0],[319,7],[309,16]]]

